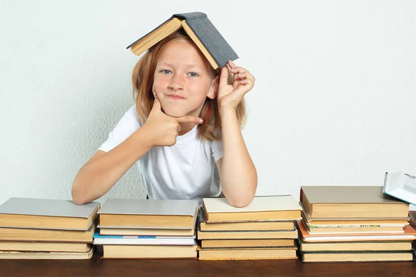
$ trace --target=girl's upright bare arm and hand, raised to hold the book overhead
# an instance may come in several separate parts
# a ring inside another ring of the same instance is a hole
[[[252,202],[257,189],[257,170],[248,154],[236,115],[245,93],[254,87],[255,78],[246,69],[228,62],[233,83],[228,84],[228,71],[221,69],[218,84],[218,107],[223,132],[223,158],[217,161],[221,186],[228,203],[244,207]]]

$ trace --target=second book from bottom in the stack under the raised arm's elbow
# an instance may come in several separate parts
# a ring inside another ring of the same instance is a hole
[[[295,247],[293,239],[201,240],[202,248]]]

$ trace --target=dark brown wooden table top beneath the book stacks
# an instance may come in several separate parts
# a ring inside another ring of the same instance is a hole
[[[416,262],[302,263],[299,260],[0,260],[0,276],[416,276]]]

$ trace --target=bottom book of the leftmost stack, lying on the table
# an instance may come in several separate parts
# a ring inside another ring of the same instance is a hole
[[[87,260],[93,252],[94,247],[87,252],[0,251],[0,260]]]

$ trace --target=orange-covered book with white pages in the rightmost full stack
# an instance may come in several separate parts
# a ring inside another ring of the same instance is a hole
[[[302,220],[296,222],[299,235],[304,242],[336,242],[357,240],[415,240],[416,231],[412,226],[406,225],[402,233],[309,233]]]

